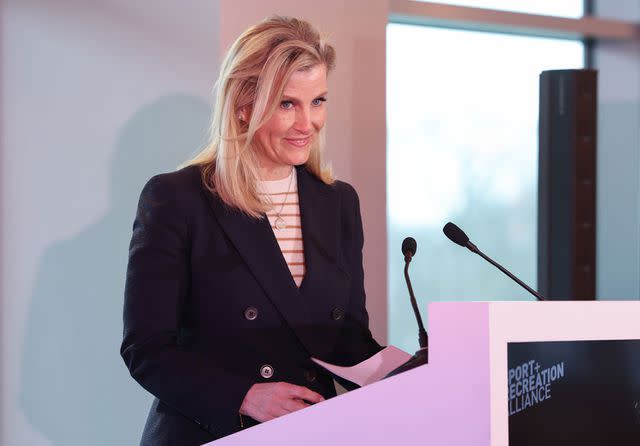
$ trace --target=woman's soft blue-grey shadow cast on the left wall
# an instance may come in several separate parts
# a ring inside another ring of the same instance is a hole
[[[209,115],[206,102],[182,94],[138,111],[115,148],[111,208],[75,237],[49,247],[40,261],[24,338],[20,406],[54,445],[139,442],[151,398],[119,354],[131,225],[144,183],[202,146]],[[94,185],[78,188],[91,200]]]

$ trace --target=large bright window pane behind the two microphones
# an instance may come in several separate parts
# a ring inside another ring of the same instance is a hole
[[[538,78],[581,68],[581,42],[410,25],[387,28],[389,339],[417,348],[400,246],[418,242],[413,288],[431,300],[531,297],[442,233],[462,227],[535,287]]]

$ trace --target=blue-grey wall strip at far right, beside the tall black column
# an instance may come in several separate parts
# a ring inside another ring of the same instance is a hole
[[[640,21],[637,0],[596,2],[596,15]],[[640,42],[600,42],[597,296],[640,298]]]

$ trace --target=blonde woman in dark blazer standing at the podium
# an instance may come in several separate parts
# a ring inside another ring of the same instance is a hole
[[[121,353],[155,397],[142,444],[196,445],[335,395],[368,329],[362,223],[323,166],[334,50],[274,17],[229,50],[211,143],[144,187]],[[266,217],[265,217],[266,216]]]

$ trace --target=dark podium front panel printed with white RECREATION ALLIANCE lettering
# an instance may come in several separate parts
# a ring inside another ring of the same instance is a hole
[[[508,344],[509,446],[640,445],[640,341]]]

